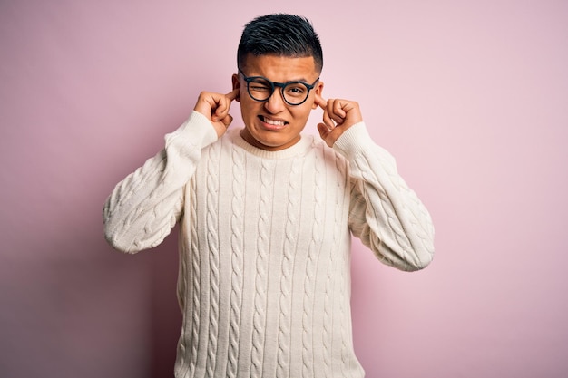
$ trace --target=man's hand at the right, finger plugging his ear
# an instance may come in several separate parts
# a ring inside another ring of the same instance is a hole
[[[324,100],[316,94],[316,104],[323,109],[323,123],[318,123],[319,135],[329,147],[333,147],[333,144],[348,128],[363,121],[357,102],[338,99]]]

